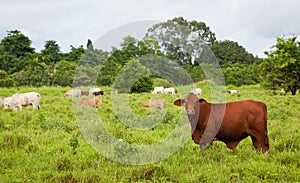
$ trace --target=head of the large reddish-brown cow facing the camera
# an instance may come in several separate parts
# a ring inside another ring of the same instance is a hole
[[[204,99],[199,99],[197,95],[189,93],[184,99],[178,99],[174,102],[174,105],[185,106],[188,115],[195,115],[199,112],[199,103],[206,102]]]

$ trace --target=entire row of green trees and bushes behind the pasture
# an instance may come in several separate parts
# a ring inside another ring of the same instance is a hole
[[[277,44],[265,52],[267,58],[262,59],[247,52],[237,42],[217,40],[204,22],[188,21],[182,17],[150,27],[141,40],[124,37],[120,47],[114,47],[110,52],[95,49],[91,40],[85,47],[71,45],[67,53],[61,52],[55,40],[45,41],[40,52],[36,52],[31,44],[30,38],[19,30],[8,31],[1,40],[1,87],[74,86],[74,82],[121,87],[126,85],[126,80],[119,75],[126,69],[127,75],[141,78],[132,80],[136,83],[127,88],[127,92],[143,92],[152,88],[153,77],[165,77],[157,73],[159,68],[153,67],[150,71],[139,65],[143,58],[151,63],[149,58],[153,57],[159,60],[159,67],[173,61],[170,67],[179,65],[184,68],[193,82],[206,79],[203,68],[207,68],[205,64],[210,64],[208,60],[211,60],[222,69],[227,85],[261,83],[266,88],[284,88],[292,94],[300,88],[300,42],[296,36],[278,37]],[[137,75],[137,69],[143,75]],[[116,82],[116,77],[123,82]],[[92,80],[95,83],[91,83]]]

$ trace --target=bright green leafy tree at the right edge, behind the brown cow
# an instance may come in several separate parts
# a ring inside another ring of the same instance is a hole
[[[292,95],[300,89],[300,42],[297,36],[278,37],[277,43],[265,52],[262,63],[264,85],[288,89]]]

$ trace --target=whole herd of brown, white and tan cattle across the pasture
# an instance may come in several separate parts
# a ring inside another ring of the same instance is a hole
[[[237,90],[225,90],[225,93],[234,94]],[[175,95],[175,88],[155,87],[152,94]],[[103,95],[100,88],[91,88],[89,91],[79,89],[68,90],[63,97],[82,97]],[[222,141],[226,146],[235,150],[241,140],[250,136],[253,146],[263,152],[269,150],[267,130],[267,107],[264,103],[243,100],[212,104],[205,99],[199,99],[201,88],[194,88],[184,99],[174,101],[176,106],[185,106],[186,114],[191,125],[191,137],[199,148],[203,149],[214,140]],[[32,105],[40,109],[41,95],[37,92],[16,93],[11,97],[0,97],[0,105],[4,109],[22,110],[23,106]],[[77,105],[100,107],[102,100],[96,97],[81,98]],[[142,104],[142,107],[165,109],[164,99],[153,99]]]

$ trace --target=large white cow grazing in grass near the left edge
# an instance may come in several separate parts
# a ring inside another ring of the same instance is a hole
[[[22,106],[32,105],[35,109],[40,109],[41,95],[37,92],[16,93],[4,106],[5,109],[22,110]]]

